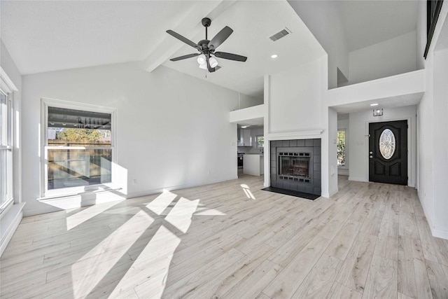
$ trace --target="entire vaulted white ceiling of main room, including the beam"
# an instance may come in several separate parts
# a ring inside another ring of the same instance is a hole
[[[208,74],[195,53],[166,33],[173,29],[195,42],[204,39],[204,17],[212,19],[209,39],[223,27],[234,32],[218,50],[248,57],[218,59]],[[269,36],[288,27],[292,34]],[[323,55],[323,49],[286,1],[1,1],[1,39],[22,74],[144,61],[160,64],[254,97],[262,97],[263,76]],[[279,57],[272,60],[270,55]]]

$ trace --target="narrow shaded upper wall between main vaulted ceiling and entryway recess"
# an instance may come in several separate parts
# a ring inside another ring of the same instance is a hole
[[[328,88],[337,87],[337,68],[349,78],[349,50],[337,1],[288,1],[328,54]]]

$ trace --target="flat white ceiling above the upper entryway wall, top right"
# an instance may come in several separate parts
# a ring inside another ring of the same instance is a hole
[[[412,32],[419,1],[336,1],[349,52]]]

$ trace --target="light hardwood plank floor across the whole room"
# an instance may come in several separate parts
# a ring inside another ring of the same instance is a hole
[[[448,298],[448,241],[416,191],[347,181],[315,201],[241,176],[23,218],[1,298]]]

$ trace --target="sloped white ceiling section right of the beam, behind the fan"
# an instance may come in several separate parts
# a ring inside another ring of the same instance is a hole
[[[276,74],[324,55],[323,48],[286,1],[239,1],[212,20],[209,39],[226,25],[234,32],[218,50],[243,55],[248,60],[234,62],[218,58],[222,69],[208,74],[207,80],[246,95],[262,97],[265,74]],[[292,33],[275,42],[269,39],[285,27]],[[179,34],[188,36],[188,31]],[[202,28],[192,40],[196,42],[204,38]],[[182,44],[171,36],[169,39]],[[195,53],[195,49],[182,46],[172,57],[190,53]],[[270,57],[273,53],[279,55],[275,60]],[[198,78],[204,78],[206,74],[195,59],[165,61],[163,65]]]

